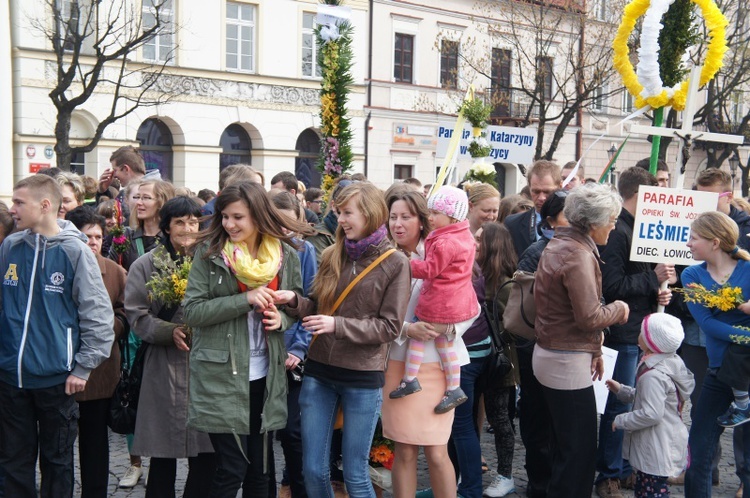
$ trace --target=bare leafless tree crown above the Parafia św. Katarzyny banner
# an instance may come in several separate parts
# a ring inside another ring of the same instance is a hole
[[[611,5],[611,4],[610,4]],[[614,7],[611,7],[614,9]],[[519,126],[537,126],[535,158],[551,159],[571,125],[581,126],[581,113],[594,102],[606,103],[621,91],[614,81],[612,24],[593,19],[574,2],[561,0],[485,1],[475,6],[480,35],[465,40],[473,50],[461,62],[492,88],[492,48],[512,53],[508,118]],[[552,67],[547,66],[548,62]],[[551,85],[550,85],[551,82]],[[551,87],[551,88],[550,88]],[[492,96],[493,104],[501,102]],[[550,128],[553,129],[549,136]]]

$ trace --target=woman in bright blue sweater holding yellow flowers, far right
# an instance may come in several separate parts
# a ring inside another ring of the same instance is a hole
[[[737,247],[738,237],[737,224],[727,215],[716,211],[699,215],[691,226],[688,247],[693,259],[703,263],[682,272],[683,286],[689,289],[690,284],[700,284],[709,291],[739,287],[742,301],[749,298],[750,254]],[[750,413],[747,408],[742,410],[743,405],[748,406],[748,379],[738,382],[747,373],[742,369],[741,356],[747,349],[750,330],[742,327],[750,327],[750,304],[719,311],[705,303],[688,302],[688,309],[706,334],[708,354],[708,372],[693,409],[688,439],[691,463],[685,474],[685,496],[692,498],[711,496],[711,460],[719,436],[724,427],[747,421]],[[737,474],[745,496],[750,496],[750,431],[743,431],[743,440],[745,465],[738,466]]]

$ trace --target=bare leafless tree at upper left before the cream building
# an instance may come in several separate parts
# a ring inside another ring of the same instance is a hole
[[[69,170],[73,155],[96,148],[107,126],[138,108],[175,96],[154,90],[173,60],[174,46],[159,63],[130,66],[139,50],[159,36],[174,34],[176,25],[167,12],[170,0],[143,0],[143,7],[131,0],[46,0],[46,6],[51,23],[31,19],[31,26],[50,41],[55,54],[56,82],[49,92],[57,110],[55,152],[57,166]],[[144,12],[153,18],[148,25],[143,22]],[[109,111],[100,117],[90,139],[71,146],[73,113],[95,92],[110,99]]]

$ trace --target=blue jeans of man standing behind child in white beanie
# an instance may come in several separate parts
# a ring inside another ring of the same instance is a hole
[[[636,344],[618,342],[605,343],[605,346],[618,352],[617,363],[612,378],[620,384],[635,386],[635,372],[638,368],[640,349]],[[633,469],[630,463],[622,458],[622,430],[612,431],[612,422],[621,413],[629,412],[632,405],[623,403],[617,396],[611,394],[607,398],[607,406],[599,422],[599,447],[596,451],[596,470],[599,476],[596,482],[604,479],[624,479]]]

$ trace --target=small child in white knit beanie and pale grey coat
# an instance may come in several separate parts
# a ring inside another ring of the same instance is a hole
[[[622,456],[636,469],[635,497],[669,496],[667,479],[685,468],[688,431],[682,406],[695,387],[692,372],[677,356],[685,333],[679,318],[666,313],[646,316],[638,346],[643,356],[636,387],[607,380],[607,388],[633,410],[615,417],[612,430],[625,430]]]

